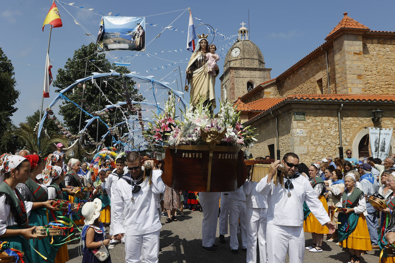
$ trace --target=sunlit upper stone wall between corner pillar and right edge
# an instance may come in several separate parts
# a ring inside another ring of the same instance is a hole
[[[395,94],[395,39],[364,37],[363,92]]]

